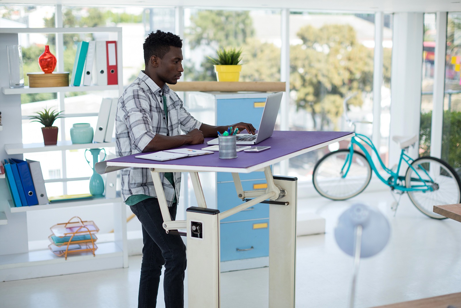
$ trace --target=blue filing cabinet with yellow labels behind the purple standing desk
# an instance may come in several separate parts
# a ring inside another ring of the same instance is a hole
[[[210,125],[248,122],[259,129],[264,102],[269,94],[189,92],[186,93],[185,105],[192,116]],[[237,197],[230,173],[208,172],[200,173],[199,176],[209,208],[219,209],[223,212],[242,203],[242,200]],[[240,174],[240,179],[243,190],[265,189],[267,187],[264,172]],[[196,205],[193,195],[190,197],[190,201],[188,206]],[[263,203],[222,220],[221,261],[269,256],[268,223],[269,205]],[[242,269],[242,263],[239,264],[239,268],[235,269]],[[252,264],[251,267],[257,267],[254,262]]]

